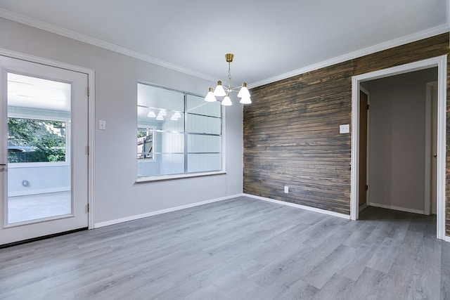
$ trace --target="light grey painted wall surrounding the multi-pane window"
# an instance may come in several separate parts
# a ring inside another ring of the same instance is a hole
[[[136,84],[204,94],[214,83],[0,18],[0,48],[95,70],[95,222],[243,192],[243,110],[226,107],[227,174],[136,184]],[[236,101],[235,101],[236,103]]]

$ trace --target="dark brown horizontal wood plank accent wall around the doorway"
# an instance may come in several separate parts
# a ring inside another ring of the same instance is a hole
[[[244,193],[349,214],[351,134],[340,134],[339,125],[352,124],[352,76],[449,53],[449,33],[439,34],[252,89],[243,119]],[[446,178],[450,235],[449,168]]]

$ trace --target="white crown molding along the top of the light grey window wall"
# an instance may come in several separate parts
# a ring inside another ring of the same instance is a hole
[[[75,39],[77,41],[82,41],[86,44],[91,44],[94,46],[98,46],[101,48],[105,48],[110,51],[114,51],[125,56],[130,56],[132,58],[137,58],[139,60],[146,61],[147,63],[153,63],[154,65],[159,65],[161,67],[166,67],[167,69],[174,70],[176,72],[181,72],[184,74],[188,74],[194,77],[198,77],[200,79],[206,79],[209,81],[215,81],[216,79],[210,75],[203,74],[200,72],[196,72],[190,69],[186,69],[185,67],[180,67],[179,65],[174,65],[172,63],[167,63],[165,60],[160,60],[158,58],[153,58],[151,56],[147,56],[143,53],[130,50],[128,48],[124,48],[122,46],[117,46],[112,43],[108,43],[107,41],[102,41],[101,39],[96,39],[94,37],[89,37],[86,34],[80,34],[78,32],[74,32],[72,30],[67,30],[63,27],[58,27],[56,25],[51,25],[47,22],[42,22],[40,20],[36,20],[34,18],[27,17],[25,15],[20,15],[19,13],[13,13],[12,11],[8,11],[4,8],[0,8],[0,17],[8,20],[12,20],[15,22],[19,22],[25,25],[29,25],[31,27],[38,28],[40,30],[45,30],[47,32],[52,32],[54,34],[61,35],[63,37],[68,37],[70,39]]]

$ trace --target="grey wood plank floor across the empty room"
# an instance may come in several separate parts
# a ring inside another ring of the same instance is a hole
[[[0,299],[450,299],[435,228],[239,197],[0,249]]]

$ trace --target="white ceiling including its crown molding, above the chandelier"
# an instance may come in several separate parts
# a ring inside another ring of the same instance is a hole
[[[258,86],[449,31],[449,0],[0,0],[0,17]]]

